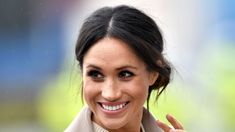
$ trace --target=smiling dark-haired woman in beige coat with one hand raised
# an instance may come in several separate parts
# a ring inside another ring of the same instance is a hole
[[[129,6],[95,11],[84,22],[75,50],[88,107],[65,131],[183,132],[172,116],[167,119],[174,128],[148,112],[152,91],[158,98],[170,79],[162,51],[159,28],[143,12]]]

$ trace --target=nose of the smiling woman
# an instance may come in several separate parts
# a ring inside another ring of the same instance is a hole
[[[118,87],[118,83],[113,79],[107,80],[102,88],[102,97],[107,101],[116,101],[121,98],[122,92]]]

